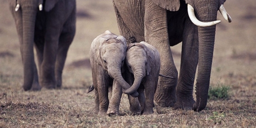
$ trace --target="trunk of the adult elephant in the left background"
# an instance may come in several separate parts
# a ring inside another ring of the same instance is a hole
[[[32,87],[34,76],[34,31],[36,22],[36,2],[30,1],[31,4],[22,6],[22,23],[23,23],[23,41],[21,43],[21,53],[23,61],[23,88],[25,91]]]

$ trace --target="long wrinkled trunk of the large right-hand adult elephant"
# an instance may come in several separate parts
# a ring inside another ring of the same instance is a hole
[[[209,9],[211,8],[211,9]],[[202,6],[197,11],[197,17],[200,21],[215,21],[218,8],[213,6]],[[207,14],[206,14],[207,13]],[[213,50],[215,41],[216,25],[209,27],[198,27],[199,36],[199,62],[198,78],[196,80],[196,102],[193,106],[195,111],[201,111],[205,108],[208,99],[208,90],[210,83],[211,63],[213,61]]]

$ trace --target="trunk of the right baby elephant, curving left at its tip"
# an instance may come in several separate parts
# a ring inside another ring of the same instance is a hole
[[[137,91],[137,89],[140,87],[140,83],[142,81],[142,78],[144,77],[142,72],[137,71],[134,75],[134,83],[132,86],[126,90],[123,90],[126,94],[131,94]]]

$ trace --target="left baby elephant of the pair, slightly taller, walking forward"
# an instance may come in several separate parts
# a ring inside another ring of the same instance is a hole
[[[110,31],[105,31],[92,41],[90,63],[92,82],[95,88],[95,110],[99,115],[119,115],[122,88],[130,87],[121,72],[125,61],[126,47],[125,38]],[[109,101],[108,93],[111,86],[112,96]],[[131,95],[137,97],[138,93],[134,92]]]

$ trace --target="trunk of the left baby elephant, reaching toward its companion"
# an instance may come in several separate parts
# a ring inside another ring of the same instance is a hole
[[[117,83],[122,86],[122,88],[124,88],[125,90],[130,88],[129,83],[127,83],[124,80],[124,78],[121,75],[121,71],[119,69],[114,68],[114,67],[109,68],[109,73],[110,73],[110,76],[112,76],[117,81]],[[132,97],[137,97],[139,95],[139,93],[135,91],[134,93],[130,93],[130,95]]]

